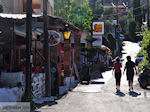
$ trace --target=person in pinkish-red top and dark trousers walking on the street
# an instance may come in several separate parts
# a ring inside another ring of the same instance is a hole
[[[116,90],[117,92],[120,91],[120,81],[121,81],[121,67],[122,64],[120,63],[120,58],[115,58],[115,63],[113,67],[113,71],[115,72],[115,80],[116,80]]]

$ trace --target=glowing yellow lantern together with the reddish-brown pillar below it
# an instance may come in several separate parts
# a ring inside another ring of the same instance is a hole
[[[65,25],[64,34],[64,75],[69,77],[71,74],[71,44],[70,44],[70,35],[71,30],[68,28],[68,25]]]

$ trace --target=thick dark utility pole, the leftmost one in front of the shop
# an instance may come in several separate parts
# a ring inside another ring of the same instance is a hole
[[[32,46],[32,0],[27,0],[26,7],[26,88],[25,100],[31,102],[31,46]]]

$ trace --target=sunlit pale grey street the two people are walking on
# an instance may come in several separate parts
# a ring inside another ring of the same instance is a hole
[[[126,56],[134,61],[140,47],[137,43],[124,42],[123,66]],[[123,67],[124,68],[124,67]],[[115,80],[112,71],[102,73],[89,85],[79,84],[71,92],[57,100],[53,105],[46,105],[37,112],[150,112],[150,90],[139,87],[134,77],[134,92],[129,94],[126,75],[122,75],[121,92],[116,94]]]

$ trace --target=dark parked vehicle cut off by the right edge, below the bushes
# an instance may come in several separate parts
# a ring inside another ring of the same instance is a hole
[[[150,68],[144,68],[139,75],[138,81],[142,88],[150,86]]]

